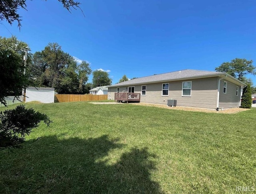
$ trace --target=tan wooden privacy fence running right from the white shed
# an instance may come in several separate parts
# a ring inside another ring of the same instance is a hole
[[[79,102],[108,100],[108,95],[91,95],[91,94],[55,94],[54,102]]]

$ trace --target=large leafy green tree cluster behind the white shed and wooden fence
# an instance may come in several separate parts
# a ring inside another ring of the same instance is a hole
[[[53,87],[61,94],[83,94],[92,70],[86,61],[78,64],[58,43],[49,43],[34,53],[30,72],[37,86]]]

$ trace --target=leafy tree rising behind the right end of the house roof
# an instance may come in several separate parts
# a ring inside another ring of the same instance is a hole
[[[246,59],[233,59],[231,62],[224,62],[215,71],[226,72],[240,81],[246,80],[246,74],[256,75],[256,67],[252,65],[253,61]]]

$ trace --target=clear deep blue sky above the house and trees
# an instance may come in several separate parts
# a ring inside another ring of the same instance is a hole
[[[256,64],[254,0],[80,0],[70,14],[57,0],[27,0],[22,27],[2,21],[32,53],[56,42],[63,51],[108,71],[115,84],[128,78],[183,69],[214,71],[245,58]],[[7,29],[10,31],[8,31]],[[256,76],[248,76],[256,84]],[[91,79],[91,76],[90,76]],[[90,80],[91,81],[91,80]]]

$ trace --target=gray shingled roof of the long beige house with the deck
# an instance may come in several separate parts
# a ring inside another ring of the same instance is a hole
[[[114,84],[108,86],[108,88],[118,87],[118,86],[128,86],[128,85],[137,85],[137,84],[146,84],[146,83],[157,83],[157,82],[165,82],[165,81],[174,81],[174,80],[185,80],[185,79],[195,79],[195,78],[203,78],[203,77],[214,77],[214,76],[227,76],[229,80],[232,82],[236,82],[236,84],[241,86],[246,86],[243,82],[237,80],[236,78],[230,76],[227,73],[216,72],[216,71],[200,71],[200,70],[191,70],[185,69],[181,71],[173,71],[170,73],[157,74],[152,76],[146,76],[141,78],[136,78],[132,80],[128,80],[125,82],[121,82],[118,84]]]

